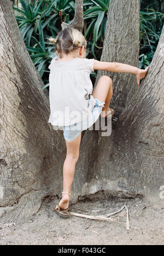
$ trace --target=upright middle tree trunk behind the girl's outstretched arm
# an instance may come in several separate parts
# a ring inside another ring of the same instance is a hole
[[[139,0],[110,0],[101,61],[138,67],[139,16]],[[98,71],[97,79],[102,74],[109,75],[113,80],[114,95],[111,107],[115,109],[115,114],[119,115],[138,89],[135,77],[132,74]]]

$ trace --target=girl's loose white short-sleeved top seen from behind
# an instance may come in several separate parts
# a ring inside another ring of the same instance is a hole
[[[95,59],[52,59],[49,66],[50,117],[53,126],[67,126],[83,121],[92,112],[96,99],[90,73]]]

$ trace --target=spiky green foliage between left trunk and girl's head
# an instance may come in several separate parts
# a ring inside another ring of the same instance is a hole
[[[44,83],[48,82],[48,66],[51,59],[56,56],[54,46],[48,43],[50,36],[56,37],[61,30],[61,13],[62,19],[69,22],[69,6],[71,0],[40,0],[40,1],[24,1],[19,0],[17,4],[21,4],[21,8],[13,7],[17,12],[16,20],[20,28],[22,37],[26,43],[28,52],[34,65],[38,69]],[[68,11],[66,13],[65,11]]]

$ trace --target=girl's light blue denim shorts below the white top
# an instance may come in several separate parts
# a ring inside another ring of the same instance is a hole
[[[76,124],[63,126],[64,138],[67,141],[72,141],[79,136],[81,131],[86,130],[91,125],[93,125],[101,114],[104,104],[105,102],[101,102],[100,100],[98,100],[98,98],[96,98],[95,106],[93,107],[92,112],[89,117],[87,117],[87,119]]]

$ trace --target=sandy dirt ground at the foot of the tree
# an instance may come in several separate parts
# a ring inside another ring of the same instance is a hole
[[[57,203],[57,197],[46,198],[39,212],[22,225],[1,223],[0,245],[164,245],[164,200],[116,198],[101,191],[70,206],[71,212],[96,216],[126,204],[129,230],[124,224],[126,209],[112,217],[118,222],[61,219],[53,211]]]

